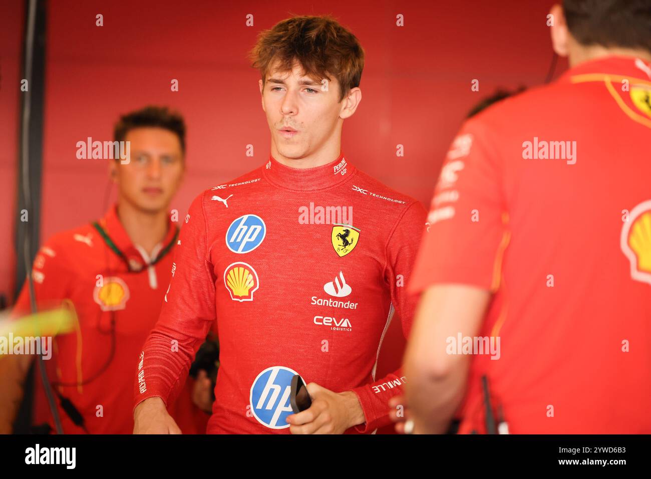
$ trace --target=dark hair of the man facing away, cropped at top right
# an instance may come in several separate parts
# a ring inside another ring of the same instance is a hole
[[[563,0],[563,10],[582,45],[651,51],[651,0]]]

